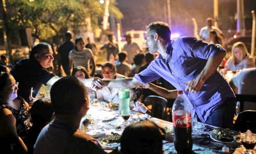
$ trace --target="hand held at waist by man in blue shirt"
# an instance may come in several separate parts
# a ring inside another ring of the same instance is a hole
[[[188,83],[184,83],[185,85],[187,85],[185,90],[191,93],[197,93],[198,91],[201,90],[203,83],[204,81],[201,80],[200,78],[192,79],[188,81]]]

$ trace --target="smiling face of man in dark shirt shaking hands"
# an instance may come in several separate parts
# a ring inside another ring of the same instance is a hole
[[[39,63],[44,68],[49,68],[53,62],[53,50],[51,48],[44,49],[39,53]]]

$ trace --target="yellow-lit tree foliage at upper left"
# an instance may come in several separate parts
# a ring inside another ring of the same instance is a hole
[[[8,29],[13,31],[13,36],[17,38],[19,29],[29,27],[35,38],[49,43],[67,30],[75,32],[80,26],[87,26],[86,18],[91,19],[94,28],[105,10],[98,0],[6,0],[5,3]],[[115,4],[116,0],[111,0],[109,11],[121,19],[123,15]]]

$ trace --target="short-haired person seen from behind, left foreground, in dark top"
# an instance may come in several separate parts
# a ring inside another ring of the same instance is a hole
[[[106,154],[96,139],[78,129],[89,109],[83,83],[67,76],[54,83],[50,93],[55,118],[38,135],[34,154]]]

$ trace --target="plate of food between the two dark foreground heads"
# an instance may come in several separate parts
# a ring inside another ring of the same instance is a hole
[[[121,135],[118,133],[111,132],[111,135],[105,135],[98,138],[98,142],[103,148],[115,148],[120,146]]]

